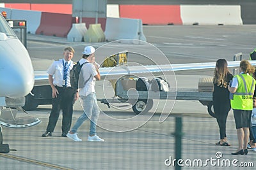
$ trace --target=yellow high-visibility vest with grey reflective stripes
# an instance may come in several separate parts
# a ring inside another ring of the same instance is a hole
[[[238,87],[230,100],[231,107],[234,110],[252,110],[253,109],[253,89],[255,80],[249,74],[238,74],[235,76],[238,81]]]

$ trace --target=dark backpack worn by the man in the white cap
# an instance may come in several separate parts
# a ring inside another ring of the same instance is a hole
[[[70,70],[69,77],[70,77],[70,84],[73,89],[78,89],[78,88],[83,88],[84,85],[81,85],[79,80],[79,75],[81,72],[81,69],[84,64],[88,62],[84,62],[83,64],[80,65],[79,61],[73,66],[73,68]]]

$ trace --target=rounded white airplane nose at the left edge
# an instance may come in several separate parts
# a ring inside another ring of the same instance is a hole
[[[34,85],[34,71],[29,54],[17,39],[1,46],[0,97],[24,97]]]

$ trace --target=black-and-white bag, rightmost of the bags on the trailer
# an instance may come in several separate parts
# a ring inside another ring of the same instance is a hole
[[[169,83],[161,77],[153,78],[150,84],[150,90],[154,92],[169,92]]]

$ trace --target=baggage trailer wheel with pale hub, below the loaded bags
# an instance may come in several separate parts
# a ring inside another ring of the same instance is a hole
[[[139,99],[134,106],[132,106],[132,110],[137,115],[141,113],[141,111],[149,111],[153,107],[152,99]]]

